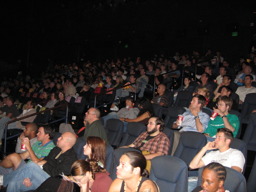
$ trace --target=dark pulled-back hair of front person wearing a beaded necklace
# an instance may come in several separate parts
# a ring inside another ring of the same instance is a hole
[[[134,168],[139,167],[140,168],[140,176],[148,176],[148,170],[146,170],[146,158],[144,157],[144,155],[142,155],[142,153],[138,152],[138,151],[127,151],[124,152],[123,155],[128,156],[128,158],[130,159],[130,165],[132,166],[132,171]]]

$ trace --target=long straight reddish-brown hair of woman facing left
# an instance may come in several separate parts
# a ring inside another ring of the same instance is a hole
[[[103,168],[98,166],[99,171],[105,171],[106,164],[105,164],[105,157],[106,157],[106,143],[100,137],[88,137],[87,144],[90,144],[92,154],[90,161],[101,162],[103,164]]]

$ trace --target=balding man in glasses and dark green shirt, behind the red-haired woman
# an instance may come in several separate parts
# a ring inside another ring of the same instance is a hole
[[[102,138],[108,143],[108,138],[104,126],[100,122],[100,110],[90,108],[84,116],[84,125],[86,126],[83,138],[86,140],[89,136]]]

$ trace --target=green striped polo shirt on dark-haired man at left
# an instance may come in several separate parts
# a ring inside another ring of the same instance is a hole
[[[42,142],[38,141],[36,142],[33,146],[32,146],[32,150],[34,151],[36,157],[38,159],[40,158],[44,158],[46,156],[48,156],[49,152],[52,150],[52,148],[54,148],[55,145],[54,143],[51,141],[49,141],[48,143],[46,143],[45,145],[42,146]],[[29,160],[28,162],[30,162],[31,160]]]

